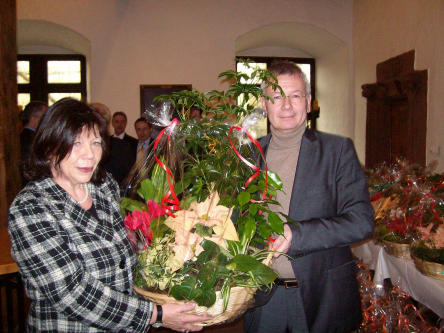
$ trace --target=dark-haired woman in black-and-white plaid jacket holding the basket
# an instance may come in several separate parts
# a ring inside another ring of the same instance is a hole
[[[31,299],[28,331],[144,332],[163,322],[197,331],[194,305],[163,307],[132,290],[135,253],[119,188],[100,167],[106,124],[74,99],[51,106],[37,129],[33,181],[9,210],[12,256]],[[162,311],[163,308],[163,311]]]

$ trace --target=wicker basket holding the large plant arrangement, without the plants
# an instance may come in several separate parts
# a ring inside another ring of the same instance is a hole
[[[160,294],[141,289],[134,286],[134,290],[140,295],[148,298],[157,304],[175,303],[184,304],[188,301],[178,301],[174,297],[167,294]],[[192,313],[203,315],[207,314],[213,318],[208,321],[199,323],[202,326],[210,326],[231,322],[239,318],[254,302],[253,295],[255,289],[234,287],[231,288],[230,299],[228,300],[227,309],[224,311],[223,298],[219,291],[216,292],[216,302],[210,307],[196,306]]]

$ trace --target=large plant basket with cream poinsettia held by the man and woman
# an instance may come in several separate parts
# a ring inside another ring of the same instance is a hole
[[[269,208],[282,184],[247,131],[264,117],[251,103],[268,97],[241,82],[276,80],[261,69],[220,77],[232,82],[226,92],[176,92],[146,110],[163,129],[121,202],[138,249],[135,290],[159,304],[197,303],[196,313],[213,316],[202,325],[236,319],[257,288],[272,287],[267,245],[292,222]],[[192,107],[204,117],[191,119]]]

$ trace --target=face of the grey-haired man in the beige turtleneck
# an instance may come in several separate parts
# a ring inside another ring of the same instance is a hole
[[[311,95],[305,96],[304,80],[297,74],[278,75],[277,79],[285,97],[281,96],[279,90],[274,91],[271,87],[267,87],[265,93],[273,97],[274,102],[263,99],[262,104],[274,129],[282,134],[288,134],[295,131],[307,119]]]

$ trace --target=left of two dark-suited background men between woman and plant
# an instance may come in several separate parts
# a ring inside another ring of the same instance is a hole
[[[113,114],[114,135],[110,137],[109,154],[103,161],[105,169],[121,186],[136,161],[137,153],[137,139],[125,133],[126,123],[125,113],[117,111]]]

